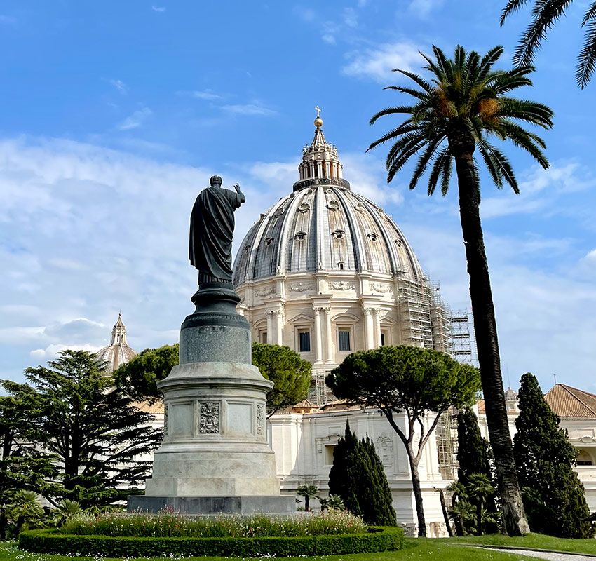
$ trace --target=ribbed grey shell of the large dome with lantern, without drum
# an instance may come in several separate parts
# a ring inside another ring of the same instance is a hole
[[[322,122],[322,121],[321,121]],[[412,248],[379,205],[351,190],[320,126],[292,193],[264,212],[238,251],[234,284],[301,271],[358,271],[421,280]]]

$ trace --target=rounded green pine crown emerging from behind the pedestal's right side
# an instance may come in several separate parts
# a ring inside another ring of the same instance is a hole
[[[267,394],[267,416],[309,395],[312,365],[288,346],[252,344],[252,364],[273,382]]]

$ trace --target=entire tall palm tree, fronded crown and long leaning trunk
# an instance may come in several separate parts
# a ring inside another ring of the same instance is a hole
[[[531,86],[528,75],[534,67],[494,70],[494,63],[503,53],[501,46],[492,48],[482,58],[475,52],[466,54],[461,46],[456,47],[453,60],[447,59],[438,47],[433,46],[433,53],[434,58],[422,55],[427,63],[425,69],[432,75],[431,81],[405,70],[395,71],[412,79],[418,88],[388,86],[386,89],[410,95],[415,101],[412,105],[388,107],[372,116],[371,124],[386,115],[402,114],[407,119],[373,142],[369,150],[393,142],[386,160],[387,182],[418,154],[409,188],[416,187],[430,166],[429,195],[435,192],[439,181],[442,194],[447,194],[452,161],[455,161],[480,377],[505,528],[510,535],[526,534],[529,528],[517,483],[503,394],[494,304],[480,224],[480,178],[474,152],[476,149],[480,152],[496,187],[500,189],[507,183],[519,193],[510,162],[489,140],[491,137],[511,140],[546,169],[548,161],[542,151],[546,148],[543,140],[517,121],[551,128],[553,111],[545,105],[506,95],[520,86]]]

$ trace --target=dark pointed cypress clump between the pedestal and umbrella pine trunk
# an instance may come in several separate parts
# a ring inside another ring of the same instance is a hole
[[[369,525],[397,525],[391,489],[377,450],[368,437],[358,441],[349,421],[344,438],[333,451],[329,493],[339,496],[348,511]]]

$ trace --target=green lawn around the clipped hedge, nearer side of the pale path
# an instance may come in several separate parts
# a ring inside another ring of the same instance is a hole
[[[0,561],[67,561],[73,557],[27,553],[16,548],[14,543],[0,543]],[[162,561],[163,557],[155,558]],[[190,557],[186,557],[190,559]],[[225,557],[192,557],[196,561],[223,561]],[[258,558],[252,558],[255,561]],[[281,560],[282,557],[279,557]],[[360,553],[358,555],[337,555],[330,557],[309,557],[313,561],[520,561],[519,555],[510,555],[495,550],[480,550],[465,546],[453,546],[432,539],[406,539],[401,551],[387,553]],[[523,557],[529,561],[529,557]],[[77,561],[93,561],[93,557],[76,557]],[[305,557],[287,557],[288,561],[304,561]],[[107,561],[107,560],[105,560]],[[140,560],[139,560],[140,561]]]

